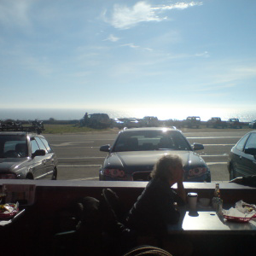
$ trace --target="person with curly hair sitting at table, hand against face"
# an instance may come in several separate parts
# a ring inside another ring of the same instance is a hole
[[[152,179],[128,213],[126,224],[137,231],[138,243],[163,247],[174,255],[190,255],[190,244],[186,247],[185,241],[175,241],[167,233],[167,226],[179,221],[177,206],[186,202],[182,159],[178,155],[161,157],[150,176]],[[175,183],[177,193],[171,188]]]

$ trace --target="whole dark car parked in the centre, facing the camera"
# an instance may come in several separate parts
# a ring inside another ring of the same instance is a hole
[[[195,150],[203,145],[189,144],[182,131],[173,128],[134,128],[119,131],[113,146],[100,148],[108,156],[100,168],[100,180],[148,181],[149,173],[161,156],[178,154],[184,163],[184,181],[211,182],[211,173]]]

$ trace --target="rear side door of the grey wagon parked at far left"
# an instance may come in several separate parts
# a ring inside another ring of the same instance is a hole
[[[46,148],[46,146],[44,145],[43,138],[35,137],[35,140],[37,141],[39,148],[44,149],[44,151],[45,151],[44,160],[43,160],[44,172],[41,173],[40,178],[50,179],[54,172],[53,154],[50,152],[49,148]],[[44,141],[46,141],[46,140],[44,139]]]

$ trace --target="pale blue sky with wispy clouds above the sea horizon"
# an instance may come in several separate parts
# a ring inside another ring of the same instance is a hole
[[[256,112],[255,45],[254,0],[0,0],[0,108]]]

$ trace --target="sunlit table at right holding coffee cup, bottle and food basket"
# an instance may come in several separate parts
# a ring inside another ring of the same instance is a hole
[[[213,209],[184,211],[179,224],[168,226],[168,233],[171,241],[190,241],[198,256],[256,255],[256,219],[235,223],[218,217]]]

